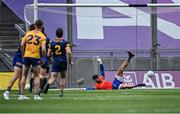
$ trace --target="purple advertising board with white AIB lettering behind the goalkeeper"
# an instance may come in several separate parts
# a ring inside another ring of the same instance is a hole
[[[146,88],[180,87],[180,71],[155,71],[155,76],[147,77],[147,71],[124,72],[123,83],[136,85],[145,83]],[[113,81],[116,71],[106,71],[106,80]]]

